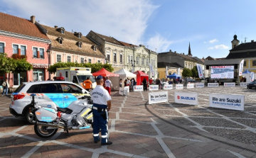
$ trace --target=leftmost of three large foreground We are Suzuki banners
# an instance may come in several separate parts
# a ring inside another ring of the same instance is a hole
[[[149,104],[168,102],[168,91],[149,93]]]

